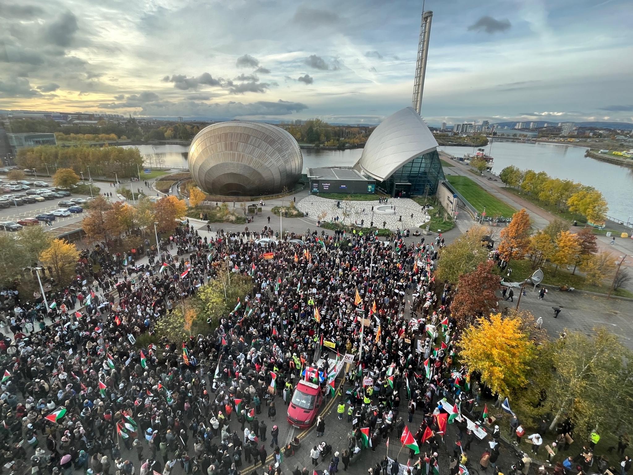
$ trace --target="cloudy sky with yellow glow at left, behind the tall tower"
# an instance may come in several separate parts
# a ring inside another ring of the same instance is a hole
[[[422,115],[633,122],[630,0],[427,0]],[[0,109],[377,123],[411,105],[421,1],[0,5]]]

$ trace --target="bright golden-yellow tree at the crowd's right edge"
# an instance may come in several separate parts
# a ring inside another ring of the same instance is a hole
[[[536,356],[534,341],[517,315],[491,314],[477,319],[456,346],[468,372],[479,372],[482,383],[502,398],[527,384],[530,362]]]

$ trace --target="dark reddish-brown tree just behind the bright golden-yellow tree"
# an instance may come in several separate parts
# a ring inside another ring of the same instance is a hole
[[[451,304],[451,312],[458,319],[458,325],[466,326],[475,315],[487,314],[496,307],[499,276],[492,272],[494,263],[486,260],[477,269],[460,276],[457,292]]]

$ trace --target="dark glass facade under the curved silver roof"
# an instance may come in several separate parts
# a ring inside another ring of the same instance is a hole
[[[422,196],[436,194],[437,185],[444,180],[442,162],[437,150],[405,163],[385,181],[378,182],[377,187],[391,196]]]

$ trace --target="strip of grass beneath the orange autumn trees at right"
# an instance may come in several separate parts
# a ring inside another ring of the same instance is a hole
[[[520,282],[525,280],[527,277],[530,277],[532,275],[534,270],[536,270],[532,269],[531,262],[527,259],[513,260],[510,262],[510,267],[512,268],[512,275],[510,277],[510,280],[513,282]],[[561,267],[559,267],[558,270],[556,270],[556,274],[554,274],[555,267],[555,265],[551,265],[551,263],[549,262],[541,265],[541,269],[545,274],[545,277],[543,279],[544,284],[551,286],[567,285],[579,290],[586,290],[589,292],[596,292],[601,294],[609,293],[609,284],[611,279],[605,279],[603,285],[601,286],[593,286],[585,282],[584,276],[579,274],[578,269],[576,270],[575,274],[572,274],[571,271],[573,270],[573,267],[571,270],[561,269]],[[495,267],[495,269],[498,270],[499,268]],[[507,278],[508,277],[506,277],[506,279]],[[613,291],[611,295],[633,298],[633,292],[627,289],[617,289]]]

